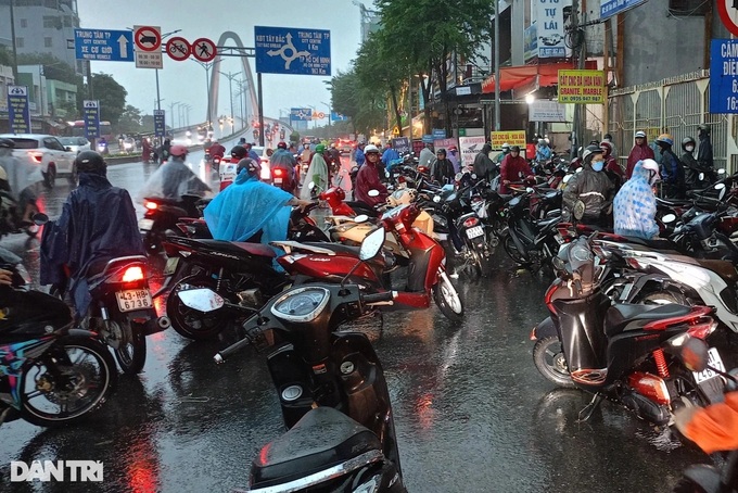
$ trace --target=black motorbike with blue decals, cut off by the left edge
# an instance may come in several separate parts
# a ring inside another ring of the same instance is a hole
[[[27,289],[17,256],[0,249],[0,268],[12,273],[0,287],[0,424],[82,421],[117,383],[113,357],[97,333],[74,328],[64,302]]]

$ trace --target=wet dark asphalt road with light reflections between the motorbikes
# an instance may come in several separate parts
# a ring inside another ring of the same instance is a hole
[[[151,170],[130,164],[111,167],[109,175],[135,195]],[[47,198],[52,217],[64,187]],[[15,236],[2,244],[29,264],[37,257],[36,241]],[[370,333],[393,399],[409,491],[667,492],[686,466],[708,462],[609,403],[577,424],[587,395],[555,390],[531,357],[529,333],[546,316],[548,280],[517,273],[501,249],[496,258],[491,278],[458,279],[467,307],[460,326],[433,306],[387,314],[383,328]],[[245,485],[251,458],[283,429],[265,355],[247,350],[215,366],[213,354],[227,343],[158,333],[149,338],[144,372],[122,378],[87,425],[58,431],[22,421],[2,426],[0,490],[204,492]],[[18,459],[102,460],[104,481],[10,484],[9,463]]]

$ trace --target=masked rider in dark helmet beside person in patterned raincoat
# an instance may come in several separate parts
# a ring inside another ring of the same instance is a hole
[[[574,204],[582,201],[585,206],[582,223],[607,227],[610,223],[614,186],[602,172],[605,168],[602,149],[599,146],[588,146],[582,153],[582,172],[572,175],[563,191],[561,217],[571,222],[574,218]]]

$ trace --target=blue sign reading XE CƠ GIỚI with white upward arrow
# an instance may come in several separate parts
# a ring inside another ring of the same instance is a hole
[[[132,62],[133,33],[130,30],[75,29],[74,49],[77,60]]]

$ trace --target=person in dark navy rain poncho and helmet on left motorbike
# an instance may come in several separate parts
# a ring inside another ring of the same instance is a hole
[[[82,151],[75,166],[79,187],[67,197],[59,220],[43,228],[40,283],[68,292],[81,319],[91,301],[88,278],[112,258],[147,253],[130,195],[107,180],[103,157]]]

